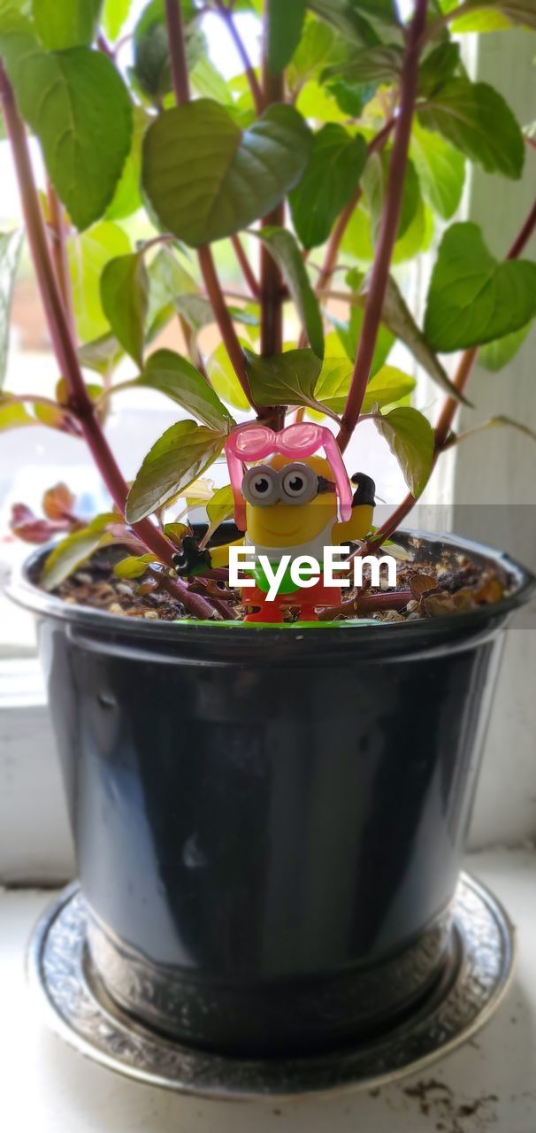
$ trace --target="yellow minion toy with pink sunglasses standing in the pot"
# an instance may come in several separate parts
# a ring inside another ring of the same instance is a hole
[[[316,455],[324,449],[325,457]],[[282,622],[284,610],[299,607],[303,621],[317,621],[320,607],[340,603],[340,586],[297,587],[290,577],[292,562],[310,555],[322,570],[324,548],[356,543],[371,530],[374,513],[374,480],[352,476],[352,492],[344,463],[330,429],[313,423],[288,425],[280,433],[258,423],[238,426],[226,444],[235,497],[235,521],[244,538],[233,544],[199,552],[193,537],[184,539],[176,556],[180,574],[229,565],[230,546],[255,548],[255,585],[243,589],[247,622]],[[283,556],[290,561],[279,582],[278,594],[267,600],[270,581],[258,562],[265,556],[271,566]]]

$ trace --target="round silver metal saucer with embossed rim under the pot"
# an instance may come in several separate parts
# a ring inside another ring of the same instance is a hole
[[[513,957],[507,913],[483,885],[462,874],[453,903],[450,965],[410,1020],[367,1045],[266,1060],[193,1050],[124,1014],[91,973],[84,901],[76,884],[36,926],[28,977],[49,1024],[88,1058],[151,1085],[237,1100],[369,1090],[420,1071],[488,1021],[509,987]]]

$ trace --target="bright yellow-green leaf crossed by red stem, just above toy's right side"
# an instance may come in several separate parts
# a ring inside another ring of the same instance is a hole
[[[352,365],[347,358],[325,358],[322,365],[315,398],[335,414],[344,411],[350,389]],[[368,414],[374,406],[390,406],[415,390],[415,378],[394,366],[382,368],[368,382],[361,412]]]

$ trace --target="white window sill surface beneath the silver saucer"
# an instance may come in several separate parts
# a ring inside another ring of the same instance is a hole
[[[44,891],[0,894],[2,1028],[0,1126],[40,1133],[534,1133],[536,1088],[536,854],[488,851],[467,867],[491,886],[518,927],[517,976],[507,999],[476,1039],[431,1071],[377,1094],[261,1105],[182,1098],[129,1082],[83,1059],[50,1034],[26,993],[23,954],[50,900]],[[408,1093],[418,1082],[429,1106]],[[29,1087],[29,1088],[28,1088]],[[449,1098],[446,1105],[442,1098]],[[465,1107],[465,1108],[463,1108]],[[473,1110],[473,1113],[470,1113]]]

